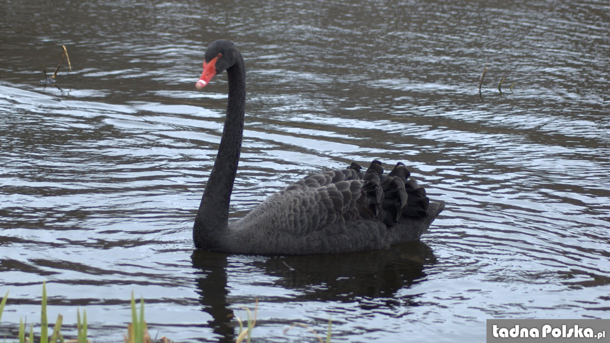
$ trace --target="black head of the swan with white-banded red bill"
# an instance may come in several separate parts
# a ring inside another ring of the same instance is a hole
[[[228,40],[217,40],[210,44],[204,56],[203,73],[201,73],[201,77],[195,84],[195,87],[198,90],[206,87],[216,74],[231,68],[237,59],[238,53],[235,45]]]

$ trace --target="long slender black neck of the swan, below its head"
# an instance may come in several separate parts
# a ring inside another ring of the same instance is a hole
[[[243,58],[227,69],[229,97],[216,161],[195,218],[193,238],[198,248],[213,248],[228,229],[229,203],[242,146],[246,82]]]

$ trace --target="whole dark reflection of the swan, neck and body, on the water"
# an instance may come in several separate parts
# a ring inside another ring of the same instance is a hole
[[[228,275],[237,275],[235,280],[249,280],[242,276],[254,275],[256,280],[273,282],[268,287],[273,287],[276,291],[267,292],[265,300],[259,305],[261,309],[284,303],[285,292],[281,290],[293,289],[296,292],[289,292],[290,302],[300,302],[305,309],[308,306],[315,308],[311,304],[316,301],[342,301],[359,303],[361,308],[395,311],[396,305],[406,308],[417,306],[423,301],[420,290],[414,295],[397,296],[397,292],[414,283],[425,282],[425,268],[436,263],[432,250],[420,241],[397,244],[386,250],[253,259],[246,257],[237,260],[228,260],[228,255],[222,253],[195,250],[191,258],[199,302],[203,311],[212,316],[207,324],[215,334],[220,335],[219,342],[223,343],[235,342],[237,325],[231,321],[231,308],[236,306],[232,302],[251,303],[248,307],[254,306],[254,295],[249,294],[252,289],[244,288],[242,284],[229,285]],[[252,268],[245,270],[243,264]],[[232,289],[230,296],[229,289]],[[285,324],[285,319],[267,322],[268,325],[278,323]]]

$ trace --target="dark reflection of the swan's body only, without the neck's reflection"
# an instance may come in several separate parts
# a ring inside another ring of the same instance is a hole
[[[425,265],[434,263],[431,248],[416,240],[384,250],[276,256],[251,265],[274,276],[274,286],[301,291],[295,300],[353,302],[362,297],[393,298],[400,289],[422,280]]]

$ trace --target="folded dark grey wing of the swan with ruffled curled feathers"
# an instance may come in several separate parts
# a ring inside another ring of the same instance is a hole
[[[365,171],[353,163],[346,169],[309,175],[265,200],[246,216],[247,221],[293,236],[362,219],[397,225],[401,218],[425,216],[428,209],[425,189],[409,176],[400,162],[384,174],[379,161]]]

